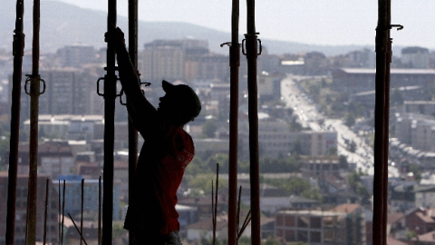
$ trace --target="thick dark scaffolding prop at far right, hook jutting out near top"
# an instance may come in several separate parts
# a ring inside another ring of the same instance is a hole
[[[373,228],[374,245],[386,245],[388,208],[388,138],[390,114],[390,63],[391,63],[391,0],[378,1],[378,26],[376,27],[376,77],[374,109],[374,176],[373,176]]]

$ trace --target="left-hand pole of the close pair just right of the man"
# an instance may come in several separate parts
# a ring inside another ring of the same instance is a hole
[[[229,46],[229,154],[228,154],[228,245],[237,244],[237,144],[238,144],[238,74],[240,44],[238,43],[239,0],[233,0],[231,14],[231,45]]]

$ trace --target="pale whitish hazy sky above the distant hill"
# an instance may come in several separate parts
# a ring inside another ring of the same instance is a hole
[[[56,0],[107,11],[107,1]],[[118,0],[118,14],[127,16],[128,0]],[[181,21],[231,31],[232,1],[139,0],[144,21]],[[246,1],[240,1],[239,33],[247,32]],[[306,44],[372,44],[378,19],[377,0],[256,1],[258,37]],[[391,0],[393,44],[435,47],[435,1]],[[140,30],[139,30],[140,31]]]

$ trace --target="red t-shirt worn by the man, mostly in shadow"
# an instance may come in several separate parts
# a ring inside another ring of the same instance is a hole
[[[169,234],[179,230],[177,191],[193,159],[194,144],[188,132],[175,127],[169,128],[163,142],[145,141],[125,228]]]

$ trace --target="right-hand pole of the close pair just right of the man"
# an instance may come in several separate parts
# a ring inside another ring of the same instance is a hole
[[[251,185],[251,239],[253,245],[259,245],[260,236],[260,201],[259,201],[259,162],[258,162],[258,103],[256,85],[256,18],[255,1],[247,0],[247,97],[249,120],[249,157]]]

